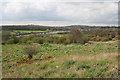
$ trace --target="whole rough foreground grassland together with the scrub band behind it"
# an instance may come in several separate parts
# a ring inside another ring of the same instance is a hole
[[[116,29],[2,37],[3,78],[118,77]]]

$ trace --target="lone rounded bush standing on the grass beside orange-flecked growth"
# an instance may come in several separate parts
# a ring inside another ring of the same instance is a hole
[[[39,52],[38,47],[36,45],[27,45],[24,47],[24,51],[28,55],[29,59],[31,59],[33,55]]]

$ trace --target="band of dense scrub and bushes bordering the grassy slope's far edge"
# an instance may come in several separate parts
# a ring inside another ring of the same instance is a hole
[[[56,34],[58,35],[58,34]],[[55,43],[55,44],[85,44],[88,41],[115,41],[118,40],[118,30],[116,29],[92,29],[91,31],[80,31],[79,28],[72,28],[66,35],[29,35],[18,37],[13,36],[8,31],[3,31],[3,44],[16,43]]]

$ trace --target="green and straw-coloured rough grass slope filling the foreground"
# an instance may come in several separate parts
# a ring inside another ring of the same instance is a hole
[[[41,52],[34,55],[32,64],[13,66],[24,55],[22,45],[3,45],[3,77],[17,78],[86,78],[117,77],[118,42],[87,45],[41,44]],[[51,55],[51,60],[40,60],[42,55]]]

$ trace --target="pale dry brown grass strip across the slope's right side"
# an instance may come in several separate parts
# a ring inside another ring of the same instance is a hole
[[[67,57],[60,57],[61,62],[64,62],[64,60],[112,60],[116,58],[118,53],[101,53],[95,56],[86,56],[86,55],[69,55]]]

